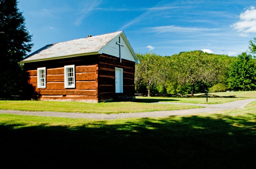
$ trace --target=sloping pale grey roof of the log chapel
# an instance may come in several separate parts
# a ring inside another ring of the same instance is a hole
[[[103,46],[122,32],[123,31],[46,45],[28,55],[19,63],[98,54]]]

